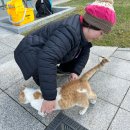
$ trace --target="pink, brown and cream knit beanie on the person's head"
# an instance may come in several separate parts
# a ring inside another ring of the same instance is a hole
[[[96,0],[92,4],[88,4],[85,11],[84,20],[105,33],[110,32],[112,26],[116,23],[113,0]]]

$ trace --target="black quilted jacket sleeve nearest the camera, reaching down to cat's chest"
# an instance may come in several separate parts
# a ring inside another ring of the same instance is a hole
[[[55,30],[38,56],[40,88],[45,100],[55,100],[57,94],[57,63],[74,46],[76,35],[67,27]]]

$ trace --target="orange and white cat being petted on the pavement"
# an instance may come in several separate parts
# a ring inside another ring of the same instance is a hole
[[[97,96],[91,89],[88,80],[107,62],[109,61],[103,58],[99,64],[86,72],[81,78],[57,88],[55,110],[68,109],[77,105],[83,108],[79,111],[79,114],[83,115],[89,107],[89,102],[95,104]],[[40,115],[45,116],[45,113],[40,113],[41,105],[44,101],[40,89],[24,88],[19,93],[19,101],[23,104],[30,103],[33,108],[38,110]]]

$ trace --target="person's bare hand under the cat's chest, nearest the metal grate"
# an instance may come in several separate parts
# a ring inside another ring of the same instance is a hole
[[[56,106],[55,100],[52,101],[44,100],[41,106],[41,113],[44,114],[51,113],[55,109],[55,106]]]

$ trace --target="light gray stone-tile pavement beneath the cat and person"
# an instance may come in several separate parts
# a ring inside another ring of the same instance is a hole
[[[13,51],[24,36],[0,28],[0,130],[45,129],[59,111],[43,118],[30,105],[21,105],[18,93],[21,86],[36,87],[32,79],[24,81],[14,61]],[[64,113],[89,130],[130,130],[130,48],[94,46],[83,73],[99,63],[99,56],[111,60],[91,79],[98,95],[85,115],[79,107]],[[58,85],[67,77],[58,77]]]

